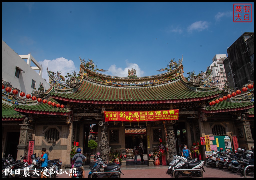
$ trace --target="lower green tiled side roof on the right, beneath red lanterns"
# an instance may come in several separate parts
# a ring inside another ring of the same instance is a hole
[[[211,101],[215,101],[215,98]],[[209,101],[209,102],[211,102]],[[231,102],[231,101],[221,101],[219,103],[215,103],[214,105],[209,105],[209,102],[207,103],[206,107],[204,108],[207,111],[216,111],[216,110],[225,110],[225,109],[236,109],[236,108],[245,108],[251,105],[254,105],[254,102]],[[245,108],[246,109],[246,108]]]

